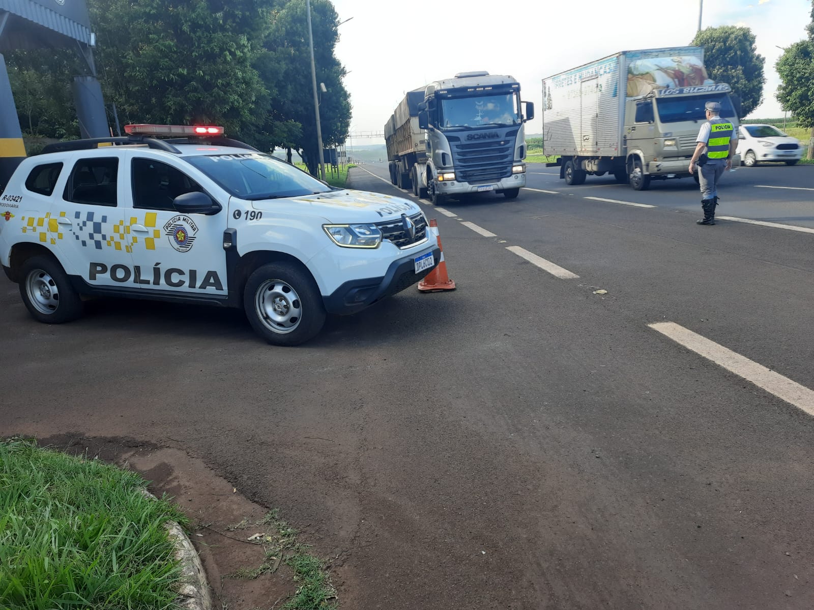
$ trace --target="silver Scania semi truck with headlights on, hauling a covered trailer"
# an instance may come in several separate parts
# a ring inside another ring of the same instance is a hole
[[[436,205],[488,191],[515,198],[533,118],[511,76],[461,72],[408,91],[384,125],[390,181]]]

